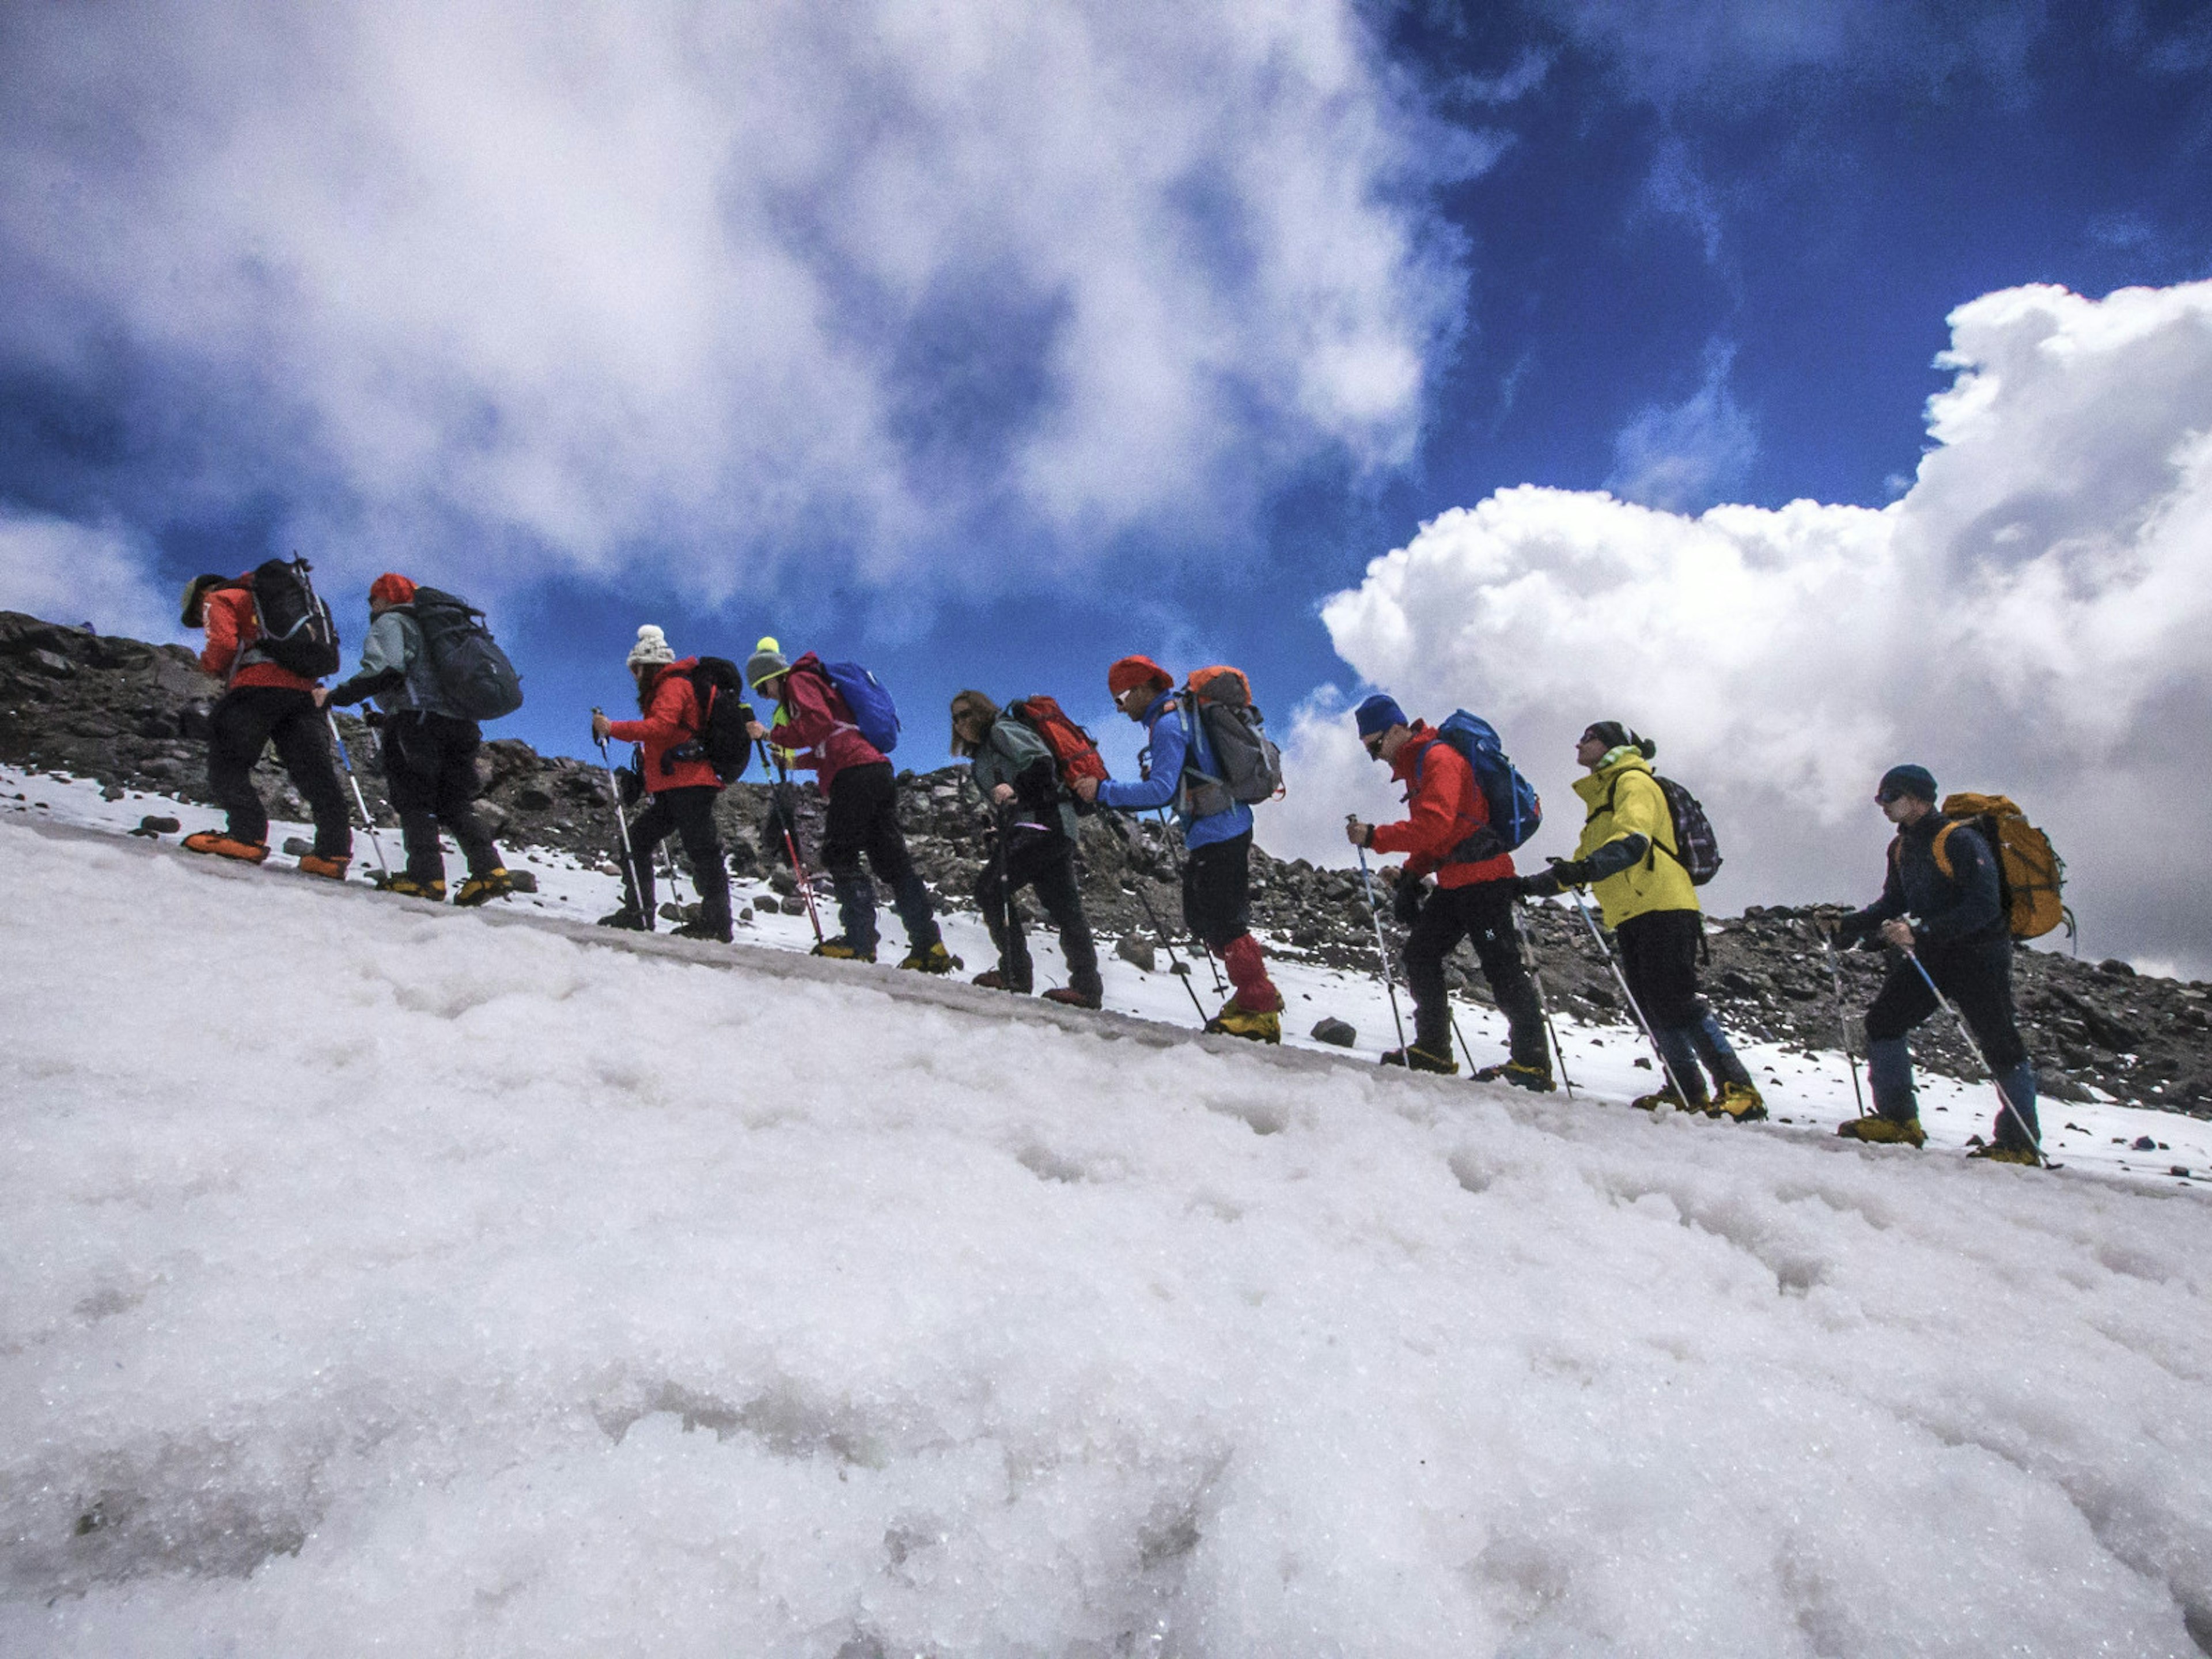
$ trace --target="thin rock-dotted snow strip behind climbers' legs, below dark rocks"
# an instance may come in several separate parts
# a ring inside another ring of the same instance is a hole
[[[221,814],[190,803],[179,803],[157,794],[131,792],[119,801],[102,799],[100,785],[86,779],[22,772],[0,765],[0,823],[11,816],[66,823],[88,830],[131,830],[142,816],[175,816],[184,830],[221,827]],[[285,836],[310,836],[310,825],[276,823],[270,843],[281,845]],[[385,856],[398,858],[398,832],[385,827]],[[376,869],[369,838],[356,834],[354,878],[367,880]],[[175,836],[170,836],[175,843]],[[593,865],[582,865],[564,854],[509,849],[515,869],[538,876],[535,898],[513,898],[511,907],[564,920],[593,920],[622,902],[622,883]],[[272,858],[272,865],[290,865],[290,858]],[[460,854],[447,849],[447,867],[460,878]],[[666,898],[666,885],[661,889]],[[690,896],[690,887],[684,889]],[[774,905],[774,894],[765,883],[734,883],[739,907],[759,900]],[[1035,907],[1031,905],[1031,911]],[[834,911],[825,911],[834,918]],[[880,916],[885,927],[885,958],[896,960],[905,949],[905,933],[898,918],[887,909]],[[834,920],[832,920],[834,927]],[[945,938],[956,953],[967,960],[967,973],[975,973],[995,962],[995,953],[982,922],[973,911],[945,918]],[[805,916],[781,916],[759,909],[754,920],[739,929],[739,940],[765,945],[770,949],[805,951],[814,945],[814,933]],[[1062,984],[1064,964],[1060,945],[1051,929],[1031,925],[1031,951],[1037,958],[1037,987]],[[1166,1020],[1177,1026],[1197,1026],[1199,1011],[1190,995],[1166,971],[1139,973],[1128,962],[1102,949],[1106,975],[1106,1006],[1117,1013],[1135,1013],[1148,1020]],[[1462,949],[1462,960],[1471,953]],[[1166,960],[1159,962],[1166,969]],[[1396,971],[1396,969],[1394,969]],[[1391,1022],[1389,995],[1374,973],[1343,973],[1329,967],[1276,960],[1274,978],[1290,1002],[1283,1015],[1285,1040],[1296,1048],[1327,1051],[1307,1033],[1321,1015],[1349,1020],[1358,1029],[1354,1053],[1367,1057],[1398,1046]],[[1206,964],[1194,967],[1199,1000],[1210,1013],[1221,1004]],[[1398,991],[1400,1013],[1411,1018],[1413,1004]],[[1475,1002],[1460,1002],[1458,1013],[1464,1042],[1473,1044],[1475,1060],[1491,1064],[1504,1060],[1506,1022],[1493,1009]],[[1940,1018],[1940,1015],[1938,1015]],[[1577,1091],[1590,1091],[1599,1099],[1632,1099],[1657,1086],[1650,1051],[1628,1026],[1584,1026],[1575,1020],[1557,1024],[1557,1040],[1566,1053],[1566,1075]],[[1334,1053],[1334,1051],[1327,1051]],[[1778,1124],[1834,1128],[1845,1117],[1858,1115],[1858,1091],[1851,1068],[1840,1051],[1803,1051],[1781,1044],[1745,1044],[1743,1057],[1759,1077]],[[1462,1053],[1464,1064],[1464,1053]],[[1995,1117],[1995,1095],[1986,1084],[1966,1084],[1949,1077],[1920,1079],[1922,1124],[1929,1130],[1931,1150],[1964,1150],[1969,1137],[1989,1135]],[[2051,1157],[2073,1168],[2099,1168],[2126,1172],[2161,1186],[2190,1183],[2212,1175],[2212,1124],[2177,1113],[2161,1113],[2135,1106],[2097,1102],[2044,1102],[2044,1139]],[[1734,1130],[1730,1130],[1734,1133]],[[2150,1146],[2137,1146],[2150,1141]]]

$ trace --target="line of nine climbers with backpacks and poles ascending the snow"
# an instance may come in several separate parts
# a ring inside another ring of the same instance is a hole
[[[445,830],[469,863],[456,902],[480,905],[511,891],[500,852],[471,805],[482,741],[478,721],[520,706],[520,684],[482,628],[482,613],[403,575],[380,575],[369,586],[372,624],[361,668],[330,690],[321,677],[338,666],[336,624],[314,597],[301,560],[270,560],[239,577],[195,577],[181,617],[190,628],[206,628],[201,666],[228,681],[206,732],[208,781],[228,812],[228,827],[186,836],[186,847],[250,863],[268,856],[268,812],[250,772],[274,743],[316,825],[314,849],[299,867],[343,878],[352,827],[332,761],[336,726],[325,710],[374,699],[383,774],[407,849],[405,869],[387,872],[383,885],[442,900],[438,832]],[[825,801],[821,865],[836,898],[838,931],[823,936],[816,920],[816,956],[876,960],[874,883],[883,880],[907,933],[900,967],[922,973],[960,967],[945,947],[929,889],[898,827],[889,761],[898,714],[874,675],[858,664],[825,664],[816,653],[787,659],[776,639],[761,639],[743,670],[719,657],[679,659],[653,624],[637,630],[626,661],[639,717],[617,721],[593,710],[591,719],[602,754],[608,741],[637,745],[622,772],[608,761],[624,902],[602,918],[604,925],[653,929],[653,856],[675,834],[699,887],[699,907],[677,933],[730,940],[730,872],[714,801],[759,752],[774,763],[781,785],[765,836],[787,854],[810,914],[812,885],[799,854],[790,772],[814,772]],[[772,701],[768,723],[743,701],[745,688]],[[998,964],[975,982],[1031,993],[1035,967],[1018,909],[1018,894],[1029,887],[1057,929],[1068,967],[1068,984],[1044,995],[1097,1009],[1097,947],[1075,872],[1077,818],[1097,810],[1161,812],[1172,814],[1183,845],[1183,929],[1230,980],[1230,995],[1206,1029],[1279,1042],[1283,993],[1250,931],[1250,856],[1252,805],[1281,794],[1281,759],[1250,684],[1234,668],[1206,668],[1179,688],[1157,661],[1130,655],[1106,670],[1106,690],[1146,730],[1135,781],[1108,776],[1091,734],[1051,697],[1000,706],[980,690],[962,690],[951,699],[953,754],[969,761],[969,776],[993,818],[975,902],[998,947]],[[1650,739],[1619,721],[1597,721],[1582,732],[1575,759],[1586,774],[1575,794],[1586,814],[1575,854],[1551,858],[1540,874],[1517,874],[1513,849],[1535,834],[1542,803],[1489,723],[1458,710],[1431,728],[1409,719],[1391,697],[1374,695],[1354,710],[1354,726],[1367,754],[1405,785],[1407,801],[1407,816],[1396,823],[1374,825],[1358,816],[1345,823],[1347,841],[1363,854],[1407,858],[1391,909],[1407,927],[1402,967],[1413,995],[1413,1037],[1385,1053],[1385,1064],[1458,1073],[1444,962],[1464,940],[1509,1031],[1502,1062],[1475,1066],[1469,1053],[1473,1077],[1553,1091],[1542,991],[1515,905],[1573,894],[1659,1057],[1663,1086],[1635,1104],[1730,1121],[1765,1117],[1750,1071],[1699,989],[1705,927],[1697,887],[1719,869],[1719,852],[1697,801],[1652,770],[1657,745]],[[343,745],[336,752],[343,757]],[[644,810],[626,816],[637,801]],[[1845,1121],[1838,1133],[1924,1144],[1907,1033],[1949,1004],[1997,1084],[1995,1133],[1975,1155],[2039,1164],[2035,1068],[2011,993],[2013,940],[2039,929],[2017,925],[2017,896],[2004,887],[2002,834],[1995,818],[1982,816],[1989,803],[2006,810],[2011,803],[1960,796],[1962,812],[1953,816],[1936,805],[1936,779],[1918,765],[1891,768],[1876,801],[1898,827],[1882,896],[1823,922],[1832,945],[1891,949],[1889,973],[1865,1011],[1874,1113]],[[1126,834],[1121,818],[1110,823]],[[1613,947],[1588,916],[1584,887],[1599,902]],[[2055,858],[2042,891],[2057,902]]]

